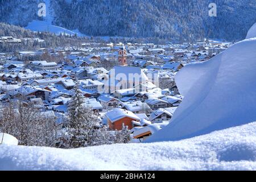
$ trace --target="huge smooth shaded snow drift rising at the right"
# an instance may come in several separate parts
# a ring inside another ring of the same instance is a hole
[[[179,140],[256,120],[256,29],[204,63],[189,64],[175,77],[184,100],[169,125],[146,142]]]

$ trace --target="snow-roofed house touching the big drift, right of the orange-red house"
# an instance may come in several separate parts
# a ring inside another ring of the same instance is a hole
[[[160,108],[152,112],[148,119],[152,123],[161,123],[163,121],[170,121],[170,119],[172,118],[172,114],[174,114],[174,111],[176,109],[177,107]]]

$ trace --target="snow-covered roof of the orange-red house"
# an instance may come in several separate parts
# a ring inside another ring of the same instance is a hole
[[[118,121],[119,119],[129,117],[135,120],[139,121],[139,117],[132,113],[131,111],[125,110],[125,109],[119,109],[115,108],[112,111],[109,111],[106,113],[106,117],[110,120],[110,122],[114,123],[115,121]]]

